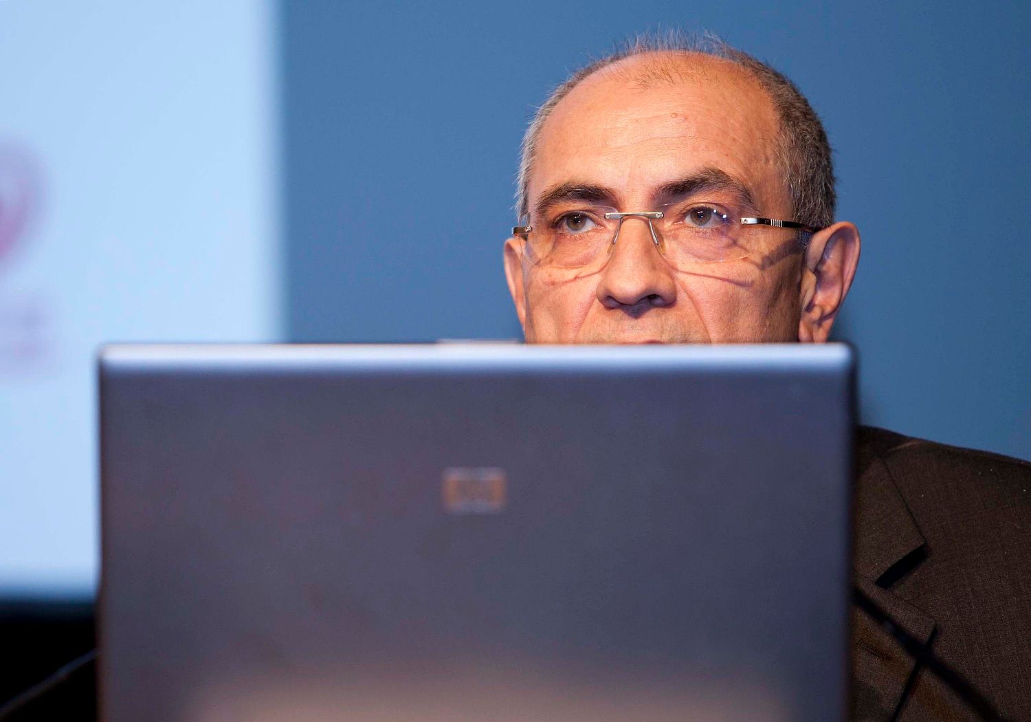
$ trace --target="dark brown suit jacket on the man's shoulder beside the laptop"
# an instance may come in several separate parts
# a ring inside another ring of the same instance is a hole
[[[861,428],[857,586],[1009,720],[1031,720],[1031,463]],[[852,613],[853,719],[972,720]]]

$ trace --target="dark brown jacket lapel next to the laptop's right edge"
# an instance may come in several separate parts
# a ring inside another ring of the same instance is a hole
[[[896,596],[892,583],[920,565],[925,539],[891,472],[868,445],[857,445],[856,528],[853,567],[856,586],[922,644],[935,623]],[[852,610],[853,719],[891,720],[910,686],[914,660],[862,611]]]

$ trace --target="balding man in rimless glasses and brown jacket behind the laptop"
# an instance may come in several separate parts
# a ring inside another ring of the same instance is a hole
[[[638,41],[527,131],[504,247],[526,339],[826,341],[860,251],[834,204],[787,78],[719,42]],[[976,719],[978,694],[1031,719],[1031,464],[878,429],[857,448],[856,587],[962,679],[854,610],[854,719]]]

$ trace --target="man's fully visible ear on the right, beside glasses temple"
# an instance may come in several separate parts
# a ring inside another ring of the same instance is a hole
[[[805,250],[798,340],[823,343],[859,265],[859,229],[841,221],[813,234]]]

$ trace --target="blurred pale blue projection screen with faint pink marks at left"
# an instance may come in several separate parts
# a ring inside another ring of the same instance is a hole
[[[0,597],[90,598],[111,340],[279,335],[271,0],[0,3]]]

